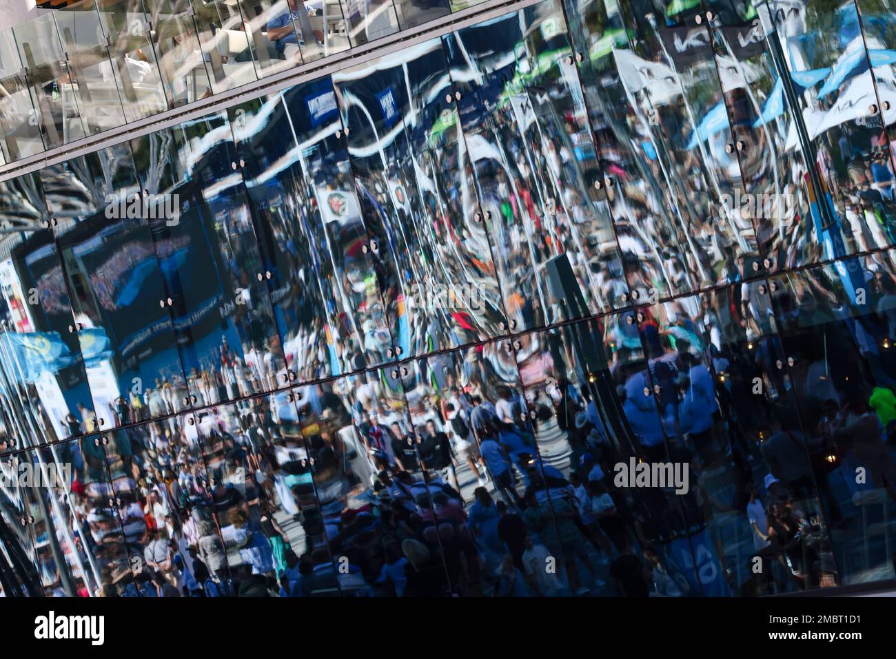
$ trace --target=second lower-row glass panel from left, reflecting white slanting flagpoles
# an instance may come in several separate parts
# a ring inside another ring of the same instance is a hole
[[[115,596],[134,573],[98,436],[22,454],[36,480],[22,488],[47,596]]]

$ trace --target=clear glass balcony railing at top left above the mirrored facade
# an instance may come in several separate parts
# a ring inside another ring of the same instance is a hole
[[[0,167],[478,2],[83,0],[0,31]]]

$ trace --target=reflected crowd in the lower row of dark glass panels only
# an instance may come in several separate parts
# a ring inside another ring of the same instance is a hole
[[[858,339],[889,333],[896,278],[863,268],[874,311],[851,320],[829,270],[762,294],[780,335],[728,287],[41,449],[75,466],[69,501],[18,494],[65,554],[35,544],[43,587],[68,569],[94,595],[728,595],[880,569],[855,494],[896,502],[896,396]],[[820,321],[846,354],[816,352]],[[690,492],[619,486],[630,456],[686,464]]]

